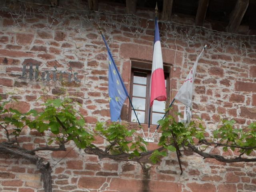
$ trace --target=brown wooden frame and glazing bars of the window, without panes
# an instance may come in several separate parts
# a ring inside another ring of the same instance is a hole
[[[138,110],[138,111],[145,111],[145,118],[144,118],[144,123],[141,124],[148,124],[148,113],[149,113],[149,106],[150,106],[150,77],[151,77],[151,67],[152,63],[151,62],[138,62],[138,61],[132,61],[132,68],[131,68],[131,78],[130,78],[130,99],[132,101],[133,99],[133,86],[134,86],[134,72],[138,73],[144,73],[146,74],[147,82],[146,82],[146,103],[145,103],[145,110]],[[164,76],[166,77],[166,107],[169,105],[169,98],[170,98],[170,65],[164,65]],[[139,84],[138,84],[139,85]],[[135,96],[136,98],[140,98],[139,96]],[[144,97],[143,97],[144,98]],[[136,110],[136,109],[135,109]],[[152,108],[150,110],[150,125],[152,125]],[[128,108],[128,122],[132,122],[131,117],[132,117],[132,106],[129,104]],[[161,112],[154,112],[154,113],[160,113]]]

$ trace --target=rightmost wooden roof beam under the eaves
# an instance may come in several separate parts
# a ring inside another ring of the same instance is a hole
[[[238,30],[248,5],[249,0],[237,0],[236,6],[230,15],[230,21],[227,26],[228,32],[236,32]]]

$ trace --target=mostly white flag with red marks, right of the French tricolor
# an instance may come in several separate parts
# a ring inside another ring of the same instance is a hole
[[[206,46],[204,46],[204,49],[205,48]],[[200,59],[202,53],[204,52],[204,49],[196,59],[194,66],[188,73],[188,76],[184,80],[183,85],[180,87],[176,96],[174,97],[174,99],[182,102],[186,106],[184,110],[184,120],[183,120],[185,123],[189,123],[190,118],[192,116],[191,110],[192,110],[193,83],[196,75],[196,66],[198,64],[198,60]]]

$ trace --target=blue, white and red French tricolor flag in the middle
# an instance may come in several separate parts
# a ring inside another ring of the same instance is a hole
[[[153,105],[154,100],[166,100],[163,59],[157,19],[155,19],[154,52],[150,88],[150,107]]]

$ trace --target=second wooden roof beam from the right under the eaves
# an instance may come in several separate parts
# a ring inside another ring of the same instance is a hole
[[[195,21],[196,26],[204,25],[204,19],[206,16],[209,1],[210,0],[199,0],[197,12],[196,12],[196,21]]]

